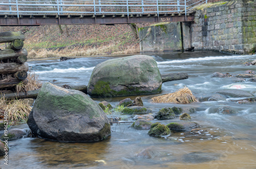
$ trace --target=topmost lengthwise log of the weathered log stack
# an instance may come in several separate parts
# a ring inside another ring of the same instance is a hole
[[[22,32],[1,32],[0,43],[12,42],[15,39],[25,40],[25,34]]]

